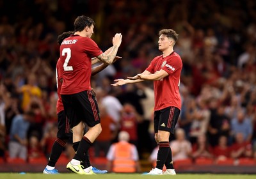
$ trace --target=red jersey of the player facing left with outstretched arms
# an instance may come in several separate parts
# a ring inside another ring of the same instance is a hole
[[[163,55],[154,58],[146,69],[151,74],[163,69],[169,75],[159,81],[154,81],[155,107],[158,111],[166,107],[174,106],[181,108],[181,98],[179,93],[180,73],[182,61],[176,52],[163,58]]]

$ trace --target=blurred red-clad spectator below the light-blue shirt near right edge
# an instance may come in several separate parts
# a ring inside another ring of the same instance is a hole
[[[231,146],[230,156],[233,159],[239,159],[241,157],[252,157],[252,144],[244,140],[243,133],[237,133],[235,137],[236,141]]]

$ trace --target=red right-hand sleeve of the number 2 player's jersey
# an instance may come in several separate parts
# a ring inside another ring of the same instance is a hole
[[[92,38],[86,38],[84,40],[84,51],[91,56],[91,58],[97,57],[103,52],[99,49],[97,43],[95,43]]]

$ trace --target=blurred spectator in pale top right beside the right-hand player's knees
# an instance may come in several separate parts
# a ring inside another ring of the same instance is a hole
[[[187,141],[185,137],[185,132],[182,128],[175,129],[175,140],[170,143],[173,162],[175,162],[175,160],[188,159],[191,157],[191,143]]]

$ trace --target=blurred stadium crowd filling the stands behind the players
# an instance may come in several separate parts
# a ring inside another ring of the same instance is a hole
[[[142,72],[160,54],[159,29],[172,28],[179,33],[174,50],[183,62],[173,160],[245,157],[256,162],[255,1],[19,1],[12,4],[19,15],[8,12],[10,2],[0,2],[3,159],[28,160],[51,152],[57,131],[56,40],[71,31],[72,18],[83,13],[95,19],[92,38],[102,51],[111,45],[113,34],[123,34],[118,52],[122,59],[92,77],[103,128],[94,157],[106,156],[120,130],[130,134],[141,159],[152,152],[154,156],[152,83],[120,88],[110,84]],[[13,151],[13,142],[24,152]],[[67,146],[72,157],[70,151],[72,146]]]

